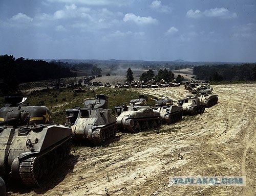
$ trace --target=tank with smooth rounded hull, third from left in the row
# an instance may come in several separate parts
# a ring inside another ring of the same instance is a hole
[[[160,113],[147,105],[147,96],[131,100],[130,106],[115,107],[117,127],[131,133],[159,128],[162,124]]]

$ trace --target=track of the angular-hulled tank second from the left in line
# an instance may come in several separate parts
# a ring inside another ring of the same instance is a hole
[[[117,128],[116,128],[115,124],[111,125],[111,126],[93,130],[93,132],[92,132],[93,143],[95,145],[102,145],[104,142],[115,137],[116,130],[117,130]]]

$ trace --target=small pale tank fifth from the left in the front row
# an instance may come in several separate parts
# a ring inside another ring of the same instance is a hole
[[[205,110],[204,103],[196,95],[187,95],[186,99],[179,100],[178,104],[182,107],[183,114],[197,115]]]

